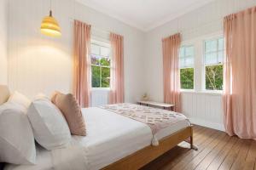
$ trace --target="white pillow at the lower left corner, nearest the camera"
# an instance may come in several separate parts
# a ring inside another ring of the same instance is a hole
[[[5,103],[0,106],[0,162],[36,162],[32,127],[20,105]]]

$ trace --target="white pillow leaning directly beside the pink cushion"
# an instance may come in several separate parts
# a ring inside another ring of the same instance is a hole
[[[61,111],[49,99],[37,99],[27,111],[38,144],[47,150],[62,148],[69,144],[71,134]]]

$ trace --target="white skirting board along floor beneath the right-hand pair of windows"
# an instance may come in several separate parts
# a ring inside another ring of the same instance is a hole
[[[209,127],[220,131],[225,131],[223,123],[217,123],[217,122],[208,122],[199,118],[193,118],[189,117],[189,121],[192,124],[200,125],[202,127]]]

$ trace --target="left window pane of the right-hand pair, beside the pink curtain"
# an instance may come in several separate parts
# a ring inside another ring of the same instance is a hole
[[[194,89],[194,46],[183,46],[179,53],[180,87]]]

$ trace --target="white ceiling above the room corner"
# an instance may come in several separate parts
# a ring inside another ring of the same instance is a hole
[[[77,0],[103,14],[148,31],[212,0]]]

